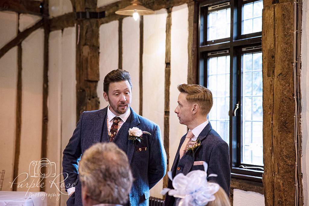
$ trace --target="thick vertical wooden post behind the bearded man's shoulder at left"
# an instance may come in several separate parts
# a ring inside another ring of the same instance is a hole
[[[96,11],[97,1],[75,2],[76,12]],[[99,80],[99,22],[97,19],[76,21],[76,118],[86,110],[99,109],[96,93]]]

